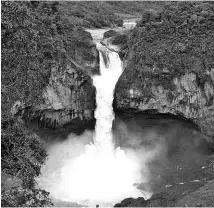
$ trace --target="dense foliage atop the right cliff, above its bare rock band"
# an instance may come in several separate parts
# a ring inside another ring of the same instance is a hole
[[[172,2],[162,12],[144,14],[129,48],[139,70],[204,74],[214,67],[214,5]]]

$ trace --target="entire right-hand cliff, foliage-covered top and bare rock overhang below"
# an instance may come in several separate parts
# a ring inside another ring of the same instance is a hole
[[[146,13],[130,37],[114,109],[183,115],[214,136],[212,18],[209,4]]]

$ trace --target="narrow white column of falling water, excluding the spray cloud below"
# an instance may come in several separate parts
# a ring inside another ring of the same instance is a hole
[[[112,121],[114,119],[112,103],[114,88],[122,73],[122,61],[116,52],[108,50],[100,43],[97,44],[97,48],[100,54],[101,75],[96,75],[93,77],[93,83],[97,91],[94,144],[100,146],[102,151],[112,151],[113,141],[111,130]]]

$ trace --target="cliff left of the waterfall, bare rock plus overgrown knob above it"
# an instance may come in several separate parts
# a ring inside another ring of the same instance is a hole
[[[58,127],[74,119],[94,119],[95,87],[91,74],[99,70],[99,54],[90,33],[77,29],[75,42],[66,42],[68,59],[52,68],[49,84],[43,92],[40,120]]]

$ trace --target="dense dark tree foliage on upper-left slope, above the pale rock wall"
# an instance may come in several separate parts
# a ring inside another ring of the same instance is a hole
[[[57,12],[49,3],[2,2],[2,120],[10,119],[13,101],[38,102],[62,41]]]

